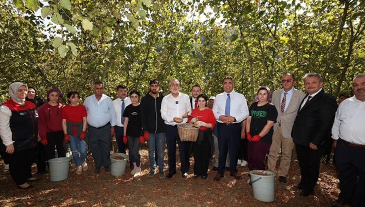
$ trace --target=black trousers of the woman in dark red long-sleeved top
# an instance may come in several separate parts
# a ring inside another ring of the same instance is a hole
[[[66,157],[63,131],[47,132],[47,144],[44,146],[46,160],[55,158],[54,149],[56,147],[58,157]]]

